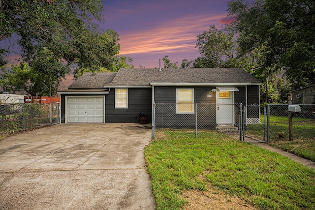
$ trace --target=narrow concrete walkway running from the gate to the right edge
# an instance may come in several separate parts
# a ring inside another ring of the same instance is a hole
[[[239,135],[230,135],[233,138],[239,139]],[[272,147],[266,143],[262,143],[260,141],[258,141],[257,139],[254,139],[250,136],[246,136],[246,141],[252,143],[253,145],[256,145],[258,147],[273,151],[273,152],[277,152],[285,157],[291,158],[292,160],[298,162],[298,163],[302,163],[304,166],[309,167],[309,168],[313,168],[315,169],[315,162],[313,162],[312,160],[308,160],[302,157],[299,157],[295,154],[292,154],[290,152],[286,152],[284,150],[280,150],[278,148]]]

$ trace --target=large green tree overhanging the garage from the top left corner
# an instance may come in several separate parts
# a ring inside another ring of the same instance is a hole
[[[55,85],[80,68],[117,71],[124,64],[131,66],[130,58],[118,55],[119,35],[98,30],[94,23],[102,21],[102,9],[102,0],[0,0],[0,41],[13,39],[19,46],[14,53],[21,55],[34,77],[47,77],[46,82],[50,78]],[[0,49],[0,64],[4,50]],[[42,86],[48,90],[38,92],[53,94],[57,89],[46,82]]]

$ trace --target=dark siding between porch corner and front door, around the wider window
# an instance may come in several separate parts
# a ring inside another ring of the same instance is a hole
[[[198,128],[214,129],[216,126],[216,93],[211,90],[216,87],[155,87],[154,100],[156,103],[173,103],[170,105],[157,105],[156,115],[159,117],[158,126],[161,127],[187,127],[195,126],[195,114],[176,114],[176,89],[194,89],[194,99],[197,104]],[[207,104],[202,104],[207,103]],[[213,103],[213,104],[209,104]],[[185,124],[185,125],[184,125]]]

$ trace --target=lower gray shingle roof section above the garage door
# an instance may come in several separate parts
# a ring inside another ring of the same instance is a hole
[[[108,83],[111,83],[116,73],[101,72],[101,73],[83,73],[75,80],[68,89],[103,89]]]

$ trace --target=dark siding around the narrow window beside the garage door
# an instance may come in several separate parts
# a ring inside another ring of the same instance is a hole
[[[128,88],[128,108],[115,109],[115,89],[112,88],[105,98],[105,122],[138,122],[134,117],[141,112],[152,120],[152,89]]]

